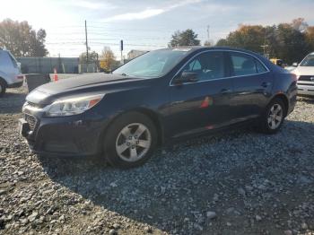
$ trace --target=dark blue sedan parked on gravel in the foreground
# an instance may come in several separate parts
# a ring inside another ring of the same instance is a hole
[[[159,144],[239,124],[275,134],[296,103],[296,76],[235,48],[167,48],[112,74],[40,86],[19,120],[31,150],[50,156],[99,154],[129,168]]]

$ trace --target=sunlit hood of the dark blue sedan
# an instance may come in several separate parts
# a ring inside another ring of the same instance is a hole
[[[84,74],[41,85],[31,91],[26,100],[34,104],[47,105],[60,97],[78,93],[109,93],[134,89],[142,87],[148,80],[118,74]]]

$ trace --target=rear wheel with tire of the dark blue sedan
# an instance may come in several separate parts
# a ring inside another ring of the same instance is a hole
[[[258,130],[265,134],[277,133],[283,126],[286,107],[281,99],[272,100],[266,107],[258,123]]]

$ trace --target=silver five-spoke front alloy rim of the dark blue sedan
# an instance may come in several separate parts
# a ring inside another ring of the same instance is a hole
[[[149,151],[152,144],[150,130],[140,123],[125,126],[118,134],[116,152],[124,161],[139,161]]]

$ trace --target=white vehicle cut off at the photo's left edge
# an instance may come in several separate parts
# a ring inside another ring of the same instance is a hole
[[[4,95],[6,88],[22,86],[23,78],[21,65],[10,51],[0,48],[0,97]]]

